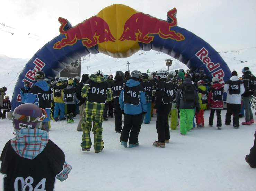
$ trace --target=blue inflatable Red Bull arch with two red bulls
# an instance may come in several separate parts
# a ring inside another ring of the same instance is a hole
[[[139,50],[156,50],[178,59],[188,68],[204,68],[209,77],[224,84],[231,76],[229,67],[207,42],[177,26],[176,8],[167,12],[167,20],[157,19],[128,6],[114,4],[83,22],[72,26],[59,17],[60,35],[45,44],[29,60],[19,75],[12,97],[12,111],[21,104],[20,89],[34,74],[45,72],[48,79],[74,60],[99,52],[114,58],[126,58]]]

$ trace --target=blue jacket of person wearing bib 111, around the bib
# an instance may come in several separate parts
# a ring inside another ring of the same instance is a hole
[[[48,86],[48,83],[46,82],[46,81],[44,81],[44,80],[42,80],[42,81],[39,81],[39,82],[36,82],[35,84],[34,84],[34,86],[38,86],[39,88],[41,88],[43,91],[47,91],[47,90],[49,90],[49,86]],[[31,90],[33,89],[33,87],[31,88]],[[30,91],[31,91],[30,90]],[[39,93],[39,92],[38,92]],[[29,93],[28,92],[28,94],[27,94],[27,99],[25,100],[25,102],[24,103],[34,103],[34,104],[36,104],[37,106],[39,106],[38,105],[38,96],[37,96],[37,94],[33,94],[33,93]],[[46,114],[47,114],[47,118],[45,118],[44,120],[43,120],[43,122],[47,122],[47,121],[50,121],[50,108],[49,109],[44,109],[45,111],[46,111]]]

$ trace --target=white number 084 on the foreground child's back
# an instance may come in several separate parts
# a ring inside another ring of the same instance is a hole
[[[23,177],[17,177],[14,181],[14,191],[46,191],[44,189],[46,178],[43,178],[34,189],[32,187],[33,182],[34,179],[32,177],[27,177],[25,180]],[[21,190],[18,190],[18,183],[21,183]]]

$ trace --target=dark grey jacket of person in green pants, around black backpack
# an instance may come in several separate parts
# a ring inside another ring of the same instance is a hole
[[[194,87],[195,102],[184,102],[182,100],[182,92],[185,90],[186,84],[191,84]],[[176,102],[177,102],[177,107],[179,107],[179,109],[195,109],[195,107],[197,108],[200,107],[198,92],[196,90],[196,87],[192,84],[189,78],[186,78],[184,82],[179,86],[179,89],[176,93]]]

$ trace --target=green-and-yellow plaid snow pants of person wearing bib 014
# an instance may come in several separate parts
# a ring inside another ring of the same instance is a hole
[[[94,135],[94,142],[93,142],[93,147],[95,152],[100,152],[103,149],[103,140],[102,140],[102,122],[103,122],[103,116],[100,115],[87,115],[85,114],[83,116],[83,122],[82,122],[82,130],[83,130],[83,135],[82,135],[82,143],[81,147],[82,148],[91,148],[91,123],[93,122],[93,128],[92,128],[92,133]]]

